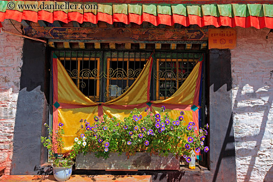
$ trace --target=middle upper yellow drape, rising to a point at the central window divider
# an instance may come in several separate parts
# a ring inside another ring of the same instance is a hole
[[[151,65],[152,57],[146,62],[146,65],[136,78],[132,86],[124,92],[118,98],[104,103],[104,105],[115,104],[115,105],[136,105],[147,102],[147,87],[148,87],[148,76]]]

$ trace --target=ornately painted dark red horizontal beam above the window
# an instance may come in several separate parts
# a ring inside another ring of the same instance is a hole
[[[85,39],[112,43],[208,40],[208,29],[24,27],[24,32],[34,38]]]

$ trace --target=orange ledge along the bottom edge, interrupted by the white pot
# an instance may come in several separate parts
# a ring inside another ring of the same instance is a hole
[[[3,175],[0,182],[56,182],[53,175]],[[66,182],[152,182],[150,175],[72,175]]]

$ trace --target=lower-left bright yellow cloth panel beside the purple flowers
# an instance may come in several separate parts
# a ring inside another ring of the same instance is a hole
[[[58,109],[58,121],[64,124],[63,129],[65,130],[63,137],[65,147],[64,151],[62,151],[63,154],[71,150],[77,129],[80,128],[80,125],[82,124],[83,127],[85,127],[84,122],[79,121],[81,119],[87,120],[87,122],[90,122],[90,125],[92,125],[95,122],[94,116],[98,116],[98,106]]]

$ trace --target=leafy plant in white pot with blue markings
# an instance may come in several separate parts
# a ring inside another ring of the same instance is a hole
[[[53,161],[53,175],[59,182],[67,181],[72,173],[74,152],[69,154],[62,154],[64,148],[63,135],[65,134],[62,126],[63,123],[58,124],[57,130],[53,131],[48,124],[44,124],[48,128],[48,137],[41,136],[41,142],[49,151],[49,158]],[[55,153],[55,151],[58,151]]]

